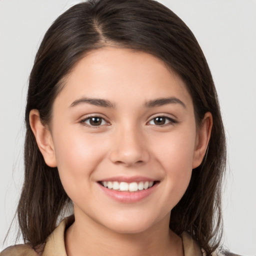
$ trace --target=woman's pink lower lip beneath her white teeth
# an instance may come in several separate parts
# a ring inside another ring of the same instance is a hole
[[[135,192],[117,191],[114,189],[109,189],[107,187],[104,187],[99,183],[98,183],[98,185],[99,185],[99,188],[101,189],[101,191],[103,191],[107,196],[109,196],[117,201],[138,202],[138,201],[146,198],[147,196],[149,196],[149,194],[151,194],[154,191],[154,189],[156,188],[158,183],[154,184],[153,186],[151,186],[147,189],[137,190]]]

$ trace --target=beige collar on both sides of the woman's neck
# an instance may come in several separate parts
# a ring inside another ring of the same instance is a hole
[[[67,256],[64,243],[65,229],[74,221],[73,216],[63,219],[46,239],[42,256]],[[201,256],[202,252],[196,242],[186,232],[181,235],[184,256]]]

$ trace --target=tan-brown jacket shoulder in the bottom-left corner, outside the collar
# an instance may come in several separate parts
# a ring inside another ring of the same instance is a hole
[[[43,251],[43,247],[44,244],[41,244],[36,248],[32,248],[32,246],[28,243],[16,244],[4,249],[2,252],[0,252],[0,256],[39,256]]]

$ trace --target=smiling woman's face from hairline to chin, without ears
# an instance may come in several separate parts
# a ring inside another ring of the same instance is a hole
[[[91,51],[52,108],[54,159],[76,219],[116,232],[168,221],[199,163],[192,99],[159,59]]]

